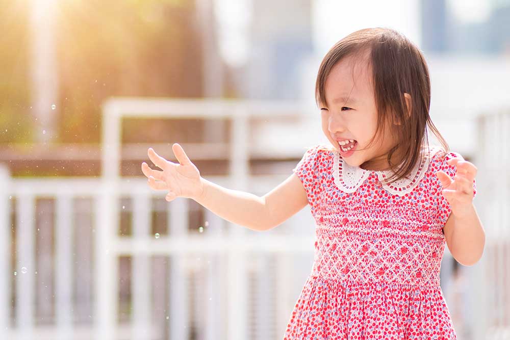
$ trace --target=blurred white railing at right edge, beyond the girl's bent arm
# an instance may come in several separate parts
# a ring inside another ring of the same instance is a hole
[[[500,110],[477,120],[480,218],[486,247],[474,267],[474,308],[471,313],[475,339],[510,339],[510,112]],[[475,319],[476,318],[476,319]]]

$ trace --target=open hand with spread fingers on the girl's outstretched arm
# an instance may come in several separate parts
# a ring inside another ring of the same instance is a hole
[[[175,158],[180,164],[172,163],[158,155],[154,149],[149,148],[149,159],[161,170],[152,170],[147,163],[142,163],[142,172],[148,178],[150,188],[154,190],[168,190],[165,199],[172,201],[177,197],[196,198],[203,193],[200,172],[191,163],[181,145],[172,145]]]

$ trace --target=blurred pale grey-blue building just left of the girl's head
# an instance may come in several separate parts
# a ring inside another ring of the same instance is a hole
[[[299,69],[313,53],[312,0],[252,2],[249,59],[236,70],[239,95],[250,99],[297,99]]]

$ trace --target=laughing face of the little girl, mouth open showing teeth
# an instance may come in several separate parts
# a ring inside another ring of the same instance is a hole
[[[352,57],[343,58],[331,68],[324,85],[327,103],[320,103],[322,130],[339,151],[341,145],[338,141],[355,140],[353,149],[340,153],[347,164],[360,166],[371,160],[373,164],[369,170],[384,170],[389,167],[385,157],[394,140],[387,131],[384,140],[379,137],[367,148],[377,124],[371,74],[366,56],[360,61]]]

